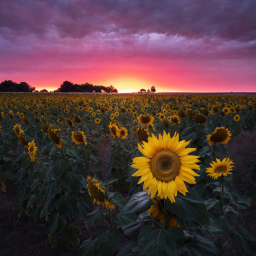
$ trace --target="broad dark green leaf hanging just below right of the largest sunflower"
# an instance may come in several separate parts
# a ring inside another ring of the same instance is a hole
[[[194,220],[201,224],[209,224],[209,215],[202,198],[194,190],[188,188],[184,196],[178,194],[175,202],[167,201],[167,208],[177,216]]]

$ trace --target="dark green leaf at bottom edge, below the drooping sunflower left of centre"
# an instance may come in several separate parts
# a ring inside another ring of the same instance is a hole
[[[96,241],[96,247],[103,256],[112,256],[114,248],[119,243],[121,238],[121,232],[114,229],[112,232],[107,231],[101,235],[98,235]]]

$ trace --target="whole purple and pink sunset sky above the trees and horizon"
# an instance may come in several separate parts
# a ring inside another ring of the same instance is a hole
[[[0,82],[256,92],[255,0],[1,0]]]

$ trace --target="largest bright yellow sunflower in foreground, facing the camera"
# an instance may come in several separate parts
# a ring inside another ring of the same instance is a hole
[[[184,181],[194,184],[195,178],[199,176],[192,170],[198,169],[197,159],[199,156],[188,155],[196,148],[185,148],[190,141],[178,141],[178,133],[173,137],[163,131],[163,136],[159,133],[158,139],[152,134],[148,137],[148,142],[142,141],[142,146],[138,144],[139,151],[145,156],[132,159],[131,167],[138,170],[132,176],[141,176],[138,184],[143,182],[143,190],[148,187],[148,194],[151,198],[158,193],[159,198],[169,198],[174,202],[177,191],[185,195],[188,192]]]

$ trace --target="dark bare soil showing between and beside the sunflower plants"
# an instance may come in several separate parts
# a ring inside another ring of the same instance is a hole
[[[105,166],[109,159],[107,158],[108,141],[102,141],[102,145],[98,147],[96,152],[101,159],[101,168]],[[256,159],[256,132],[245,131],[238,137],[231,137],[226,144],[228,156],[234,161],[233,168],[233,186],[238,194],[246,194],[252,180],[244,180],[248,174],[247,165]],[[256,184],[254,184],[256,185]],[[44,220],[38,220],[31,223],[29,217],[24,213],[18,218],[19,210],[18,199],[15,198],[17,185],[13,180],[6,179],[6,193],[0,190],[0,256],[72,256],[78,255],[77,247],[67,247],[65,237],[57,238],[57,246],[52,248],[49,244],[47,236],[42,234]],[[251,206],[246,209],[239,210],[241,217],[238,218],[239,223],[243,223],[250,234],[256,237],[256,200],[252,199]],[[105,231],[105,226],[93,229],[93,233],[84,227],[81,221],[77,223],[81,228],[79,236],[80,243],[88,239],[91,235],[95,235],[96,231]],[[95,237],[95,236],[94,236]],[[120,246],[127,243],[131,239],[124,234],[121,237]],[[225,250],[222,255],[256,255],[256,253],[246,253],[239,249],[236,245],[230,250]]]

